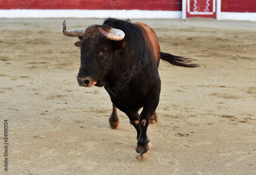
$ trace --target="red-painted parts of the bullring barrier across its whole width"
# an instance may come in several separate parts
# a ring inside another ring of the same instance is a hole
[[[186,0],[187,1],[187,0]],[[213,0],[189,0],[189,11],[194,11],[194,3],[201,12],[212,9]],[[210,4],[208,9],[205,8]],[[139,9],[181,11],[182,0],[0,0],[0,9]],[[223,12],[256,12],[256,0],[222,0]],[[190,15],[190,16],[193,16]]]

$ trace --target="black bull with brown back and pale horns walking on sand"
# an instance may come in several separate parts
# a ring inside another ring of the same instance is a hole
[[[192,62],[194,59],[161,52],[155,31],[130,19],[108,18],[102,25],[75,30],[67,30],[65,20],[62,33],[79,38],[75,42],[75,46],[80,47],[81,60],[78,84],[84,87],[104,86],[113,103],[109,118],[111,128],[119,126],[118,108],[136,128],[136,158],[146,160],[151,149],[147,127],[149,123],[158,122],[160,59],[181,67],[199,65]]]

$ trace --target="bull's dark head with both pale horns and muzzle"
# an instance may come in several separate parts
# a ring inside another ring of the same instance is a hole
[[[61,30],[66,36],[79,38],[75,42],[75,46],[80,47],[81,54],[81,65],[76,78],[78,84],[86,87],[105,85],[105,77],[111,72],[114,59],[124,48],[124,32],[105,25],[67,30],[66,20]]]

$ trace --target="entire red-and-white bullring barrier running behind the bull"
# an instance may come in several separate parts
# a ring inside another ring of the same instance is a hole
[[[256,21],[256,0],[0,0],[0,17],[214,17]]]

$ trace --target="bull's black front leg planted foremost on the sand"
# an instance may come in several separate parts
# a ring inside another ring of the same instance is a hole
[[[159,102],[160,91],[152,93],[144,103],[143,110],[139,116],[140,134],[136,147],[136,159],[144,161],[148,158],[151,149],[151,142],[146,135],[147,126],[150,118],[154,115]]]

